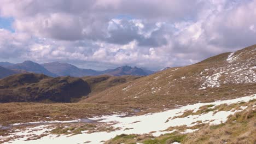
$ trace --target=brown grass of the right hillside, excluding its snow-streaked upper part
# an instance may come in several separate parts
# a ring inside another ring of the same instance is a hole
[[[208,103],[256,93],[256,83],[226,83],[220,87],[199,90],[203,81],[196,79],[197,74],[211,67],[217,66],[195,64],[175,71],[172,70],[176,68],[171,68],[108,88],[106,91],[91,95],[81,103],[132,105],[154,112],[165,108],[172,109],[177,105],[195,104],[199,101]],[[172,76],[168,77],[170,75]],[[158,76],[160,76],[159,79],[155,79]],[[183,76],[186,79],[181,79]]]

